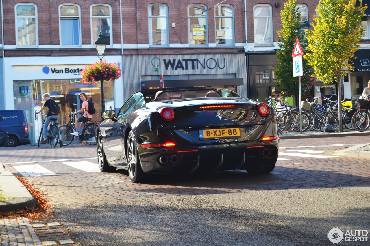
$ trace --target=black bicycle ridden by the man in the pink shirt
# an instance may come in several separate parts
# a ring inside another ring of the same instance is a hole
[[[70,117],[69,124],[65,124],[59,127],[59,132],[61,135],[61,139],[63,142],[63,146],[67,146],[72,143],[75,136],[71,133],[76,131],[74,126],[74,117],[72,115],[68,115]],[[89,122],[91,119],[88,119],[85,123],[84,129],[82,133],[78,136],[80,141],[85,141],[89,145],[96,145],[96,130],[98,129],[98,124],[95,122]]]

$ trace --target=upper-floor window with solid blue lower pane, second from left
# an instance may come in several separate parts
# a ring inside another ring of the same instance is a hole
[[[59,7],[60,44],[81,46],[80,6],[63,4]]]

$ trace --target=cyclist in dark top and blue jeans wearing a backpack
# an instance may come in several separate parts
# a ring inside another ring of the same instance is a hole
[[[50,124],[50,121],[53,120],[54,123],[58,123],[59,122],[59,117],[58,117],[58,114],[60,113],[60,107],[58,106],[58,104],[54,101],[54,100],[51,100],[50,99],[50,95],[48,93],[45,93],[43,95],[43,98],[44,98],[44,106],[41,107],[41,109],[39,109],[38,111],[36,111],[36,113],[40,113],[41,111],[44,110],[45,107],[48,107],[48,113],[47,113],[47,116],[46,116],[46,120],[45,120],[45,124],[44,124],[44,140],[42,140],[40,143],[44,144],[46,143],[46,137],[47,137],[47,126]],[[58,131],[58,134],[59,134],[59,131]],[[59,146],[62,147],[63,146],[63,141],[62,139],[59,137]]]

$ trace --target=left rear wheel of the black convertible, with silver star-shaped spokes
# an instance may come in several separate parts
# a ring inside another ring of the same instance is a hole
[[[145,179],[145,172],[141,169],[139,153],[136,147],[135,135],[132,131],[128,134],[127,139],[127,167],[128,175],[134,183],[142,182]]]

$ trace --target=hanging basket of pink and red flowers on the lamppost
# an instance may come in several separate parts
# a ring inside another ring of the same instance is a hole
[[[81,71],[82,82],[87,85],[94,85],[101,81],[110,83],[121,77],[121,69],[117,63],[108,63],[104,60],[86,65]]]

